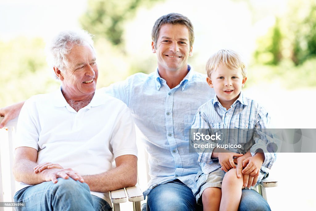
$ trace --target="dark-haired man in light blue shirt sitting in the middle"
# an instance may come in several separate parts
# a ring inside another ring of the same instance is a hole
[[[197,108],[215,93],[205,82],[205,75],[187,65],[193,42],[193,26],[187,17],[176,13],[160,17],[152,30],[157,70],[149,75],[137,73],[102,89],[127,104],[144,134],[151,177],[144,192],[147,210],[196,208],[193,193],[197,191],[195,177],[200,167],[197,153],[189,153],[189,129]],[[18,105],[4,108],[3,113],[14,115]],[[238,163],[243,159],[246,156]],[[240,209],[249,210],[243,204],[250,203],[257,210],[270,209],[258,193],[243,191]]]

